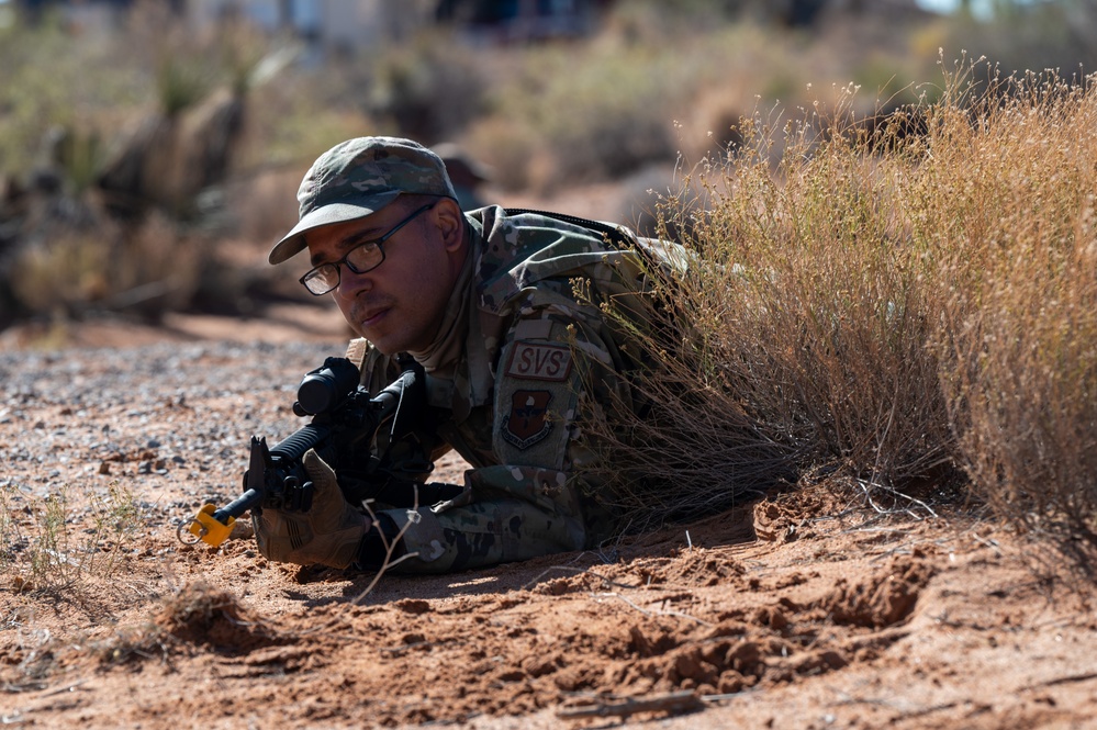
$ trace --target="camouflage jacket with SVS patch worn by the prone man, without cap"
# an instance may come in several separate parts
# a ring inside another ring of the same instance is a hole
[[[633,247],[541,214],[489,206],[466,217],[472,246],[450,300],[452,321],[439,334],[446,355],[412,355],[426,364],[430,404],[449,414],[419,434],[422,442],[433,459],[452,448],[472,469],[459,496],[416,510],[402,539],[402,551],[417,554],[400,564],[406,571],[525,560],[609,537],[612,520],[592,498],[597,478],[584,469],[596,445],[579,420],[611,400],[639,409],[628,385],[639,363],[628,333],[597,302],[612,296],[637,313],[636,326],[647,326],[650,303],[635,294],[647,287],[648,267],[684,261],[681,248],[624,228]],[[363,360],[371,393],[399,372],[376,350]],[[407,509],[379,515],[390,534],[410,519]],[[379,539],[370,535],[366,564],[379,562]]]

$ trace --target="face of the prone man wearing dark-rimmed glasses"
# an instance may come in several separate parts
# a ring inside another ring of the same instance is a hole
[[[418,207],[398,199],[367,217],[307,232],[312,266],[338,261],[363,242],[389,233]],[[339,265],[339,285],[332,295],[351,328],[383,355],[421,352],[434,341],[458,270],[451,215],[448,201],[416,215],[381,244],[384,260],[366,273]]]

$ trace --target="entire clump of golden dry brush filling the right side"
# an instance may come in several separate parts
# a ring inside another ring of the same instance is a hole
[[[784,459],[893,496],[966,473],[1018,528],[1097,542],[1094,80],[964,61],[941,89],[917,134],[866,134],[852,88],[795,123],[743,120],[728,165],[697,171],[704,215],[663,209],[692,216],[698,258],[660,288],[691,329],[648,339],[660,367],[637,381],[661,430],[592,428],[662,480],[623,471],[633,508],[726,505]]]

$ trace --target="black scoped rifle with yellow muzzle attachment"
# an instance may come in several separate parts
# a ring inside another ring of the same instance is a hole
[[[402,369],[400,377],[374,396],[359,384],[361,373],[346,358],[327,358],[323,366],[307,372],[298,386],[293,413],[311,415],[312,422],[275,448],[267,447],[266,437],[253,436],[244,493],[221,509],[204,505],[189,526],[180,526],[180,538],[187,527],[197,538],[192,542],[201,540],[217,547],[233,531],[236,518],[248,509],[307,510],[313,485],[301,459],[309,449],[315,449],[329,464],[335,464],[340,454],[367,453],[360,469],[339,474],[339,486],[352,503],[371,487],[376,491],[373,482],[383,483],[390,475],[384,460],[369,453],[369,441],[381,426],[391,423],[389,443],[396,442],[412,433],[426,411],[423,367],[406,355],[399,356],[396,362]]]

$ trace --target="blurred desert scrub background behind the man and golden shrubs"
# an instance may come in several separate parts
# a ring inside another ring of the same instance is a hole
[[[266,251],[348,137],[650,233],[743,117],[852,86],[871,123],[961,59],[1087,75],[1095,38],[1097,0],[0,0],[0,337],[327,307]]]

